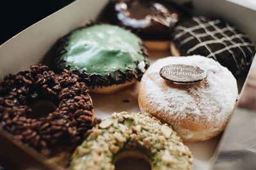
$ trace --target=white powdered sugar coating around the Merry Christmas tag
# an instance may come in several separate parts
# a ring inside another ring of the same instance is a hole
[[[174,85],[159,75],[160,69],[168,64],[198,66],[207,71],[207,78],[191,85]],[[220,131],[218,125],[225,126],[234,110],[238,93],[236,79],[232,73],[213,59],[200,55],[157,60],[144,74],[141,87],[145,87],[141,92],[149,103],[148,108],[141,107],[141,110],[156,110],[161,113],[163,119],[172,117],[175,120],[191,121],[192,126],[204,122],[205,128],[208,128],[207,124],[214,122],[215,125],[209,127],[211,132]],[[179,129],[182,123],[171,125],[174,129]],[[193,138],[193,132],[189,128],[183,131],[186,131],[182,133],[188,135],[188,138]]]

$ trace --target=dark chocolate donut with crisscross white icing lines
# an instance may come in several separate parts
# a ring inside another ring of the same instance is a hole
[[[173,55],[212,58],[235,76],[248,71],[254,48],[246,34],[220,19],[193,17],[178,24],[172,33]]]

